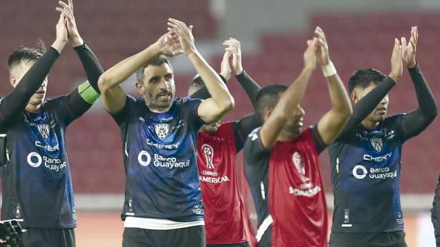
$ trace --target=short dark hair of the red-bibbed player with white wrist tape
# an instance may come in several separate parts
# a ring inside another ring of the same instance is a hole
[[[287,86],[283,84],[270,84],[261,88],[255,98],[256,114],[263,119],[264,109],[266,107],[275,107],[280,100],[279,93],[283,93],[286,90]]]

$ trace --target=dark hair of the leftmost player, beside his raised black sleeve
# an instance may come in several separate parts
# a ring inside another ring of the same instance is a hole
[[[45,53],[46,48],[43,40],[39,40],[39,48],[29,48],[29,47],[19,47],[12,51],[12,54],[10,54],[8,58],[8,69],[9,72],[11,72],[12,67],[15,67],[17,65],[27,63],[30,61],[36,61],[43,56]]]

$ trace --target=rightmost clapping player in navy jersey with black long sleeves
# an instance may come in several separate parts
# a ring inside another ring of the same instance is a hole
[[[415,60],[417,27],[395,39],[391,73],[360,69],[349,80],[353,116],[329,147],[335,211],[329,246],[406,246],[400,207],[401,146],[437,115],[437,103]],[[419,108],[386,117],[388,92],[403,63],[415,86]]]

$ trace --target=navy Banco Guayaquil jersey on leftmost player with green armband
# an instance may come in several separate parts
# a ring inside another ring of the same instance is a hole
[[[23,111],[11,119],[1,119],[0,132],[7,134],[9,158],[0,169],[1,220],[23,219],[23,225],[32,228],[76,226],[65,151],[65,128],[74,118],[66,102],[67,96],[58,97],[45,102],[41,112]]]

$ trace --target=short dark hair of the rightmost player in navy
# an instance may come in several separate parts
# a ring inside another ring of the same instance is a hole
[[[378,85],[385,78],[386,75],[384,75],[384,73],[375,69],[360,69],[353,73],[353,75],[350,77],[349,92],[352,93],[356,87],[366,89],[371,85],[371,83]]]

